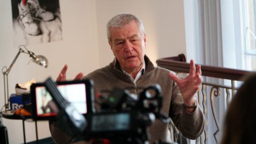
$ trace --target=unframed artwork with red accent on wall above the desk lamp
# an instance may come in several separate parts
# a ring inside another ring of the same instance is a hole
[[[11,0],[14,45],[62,40],[59,0]]]

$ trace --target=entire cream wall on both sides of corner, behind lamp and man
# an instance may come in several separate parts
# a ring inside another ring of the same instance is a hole
[[[57,78],[61,68],[68,64],[67,78],[76,74],[106,66],[113,61],[108,45],[106,24],[118,13],[129,12],[137,15],[145,26],[147,34],[146,54],[151,61],[158,58],[186,55],[185,20],[183,1],[175,0],[76,0],[60,1],[63,40],[59,42],[29,45],[28,50],[44,55],[49,68],[42,68],[31,62],[28,55],[21,54],[9,74],[9,90],[15,93],[16,83],[25,83],[32,78],[44,82],[49,76]],[[18,47],[13,44],[11,2],[0,2],[0,68],[9,67]],[[0,76],[0,106],[4,105],[3,77]],[[22,143],[22,122],[3,119],[9,133],[10,143]],[[27,142],[34,141],[35,124],[26,122]],[[38,122],[39,139],[50,137],[47,122]]]

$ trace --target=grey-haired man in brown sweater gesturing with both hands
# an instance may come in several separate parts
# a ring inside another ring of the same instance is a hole
[[[203,79],[201,66],[190,61],[190,73],[180,79],[170,70],[155,67],[145,54],[146,33],[141,20],[129,13],[118,14],[107,24],[109,45],[115,59],[108,66],[97,69],[83,77],[79,73],[75,79],[92,79],[94,92],[108,95],[114,87],[127,89],[139,94],[150,84],[159,84],[163,91],[163,113],[169,115],[179,131],[189,139],[197,139],[204,131],[204,116],[197,106],[195,94]],[[66,81],[67,65],[61,70],[57,81]],[[168,76],[169,75],[169,76]],[[97,100],[97,98],[95,98]],[[95,107],[96,109],[99,106]],[[57,143],[70,143],[75,138],[63,137],[65,133],[50,124],[52,138]],[[169,141],[168,124],[157,120],[149,128],[150,143],[156,140]]]

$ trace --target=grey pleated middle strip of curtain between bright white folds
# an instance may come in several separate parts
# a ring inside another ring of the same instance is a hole
[[[220,0],[199,0],[198,1],[198,20],[199,20],[199,57],[202,65],[223,67],[222,51],[222,27],[221,27],[221,2]],[[204,77],[204,82],[224,84],[223,79]],[[209,143],[215,143],[213,133],[217,131],[214,118],[211,111],[210,101],[211,87],[206,87],[207,94],[207,131]],[[223,94],[224,91],[221,90]],[[219,124],[223,119],[222,111],[225,111],[225,99],[221,97],[214,98],[215,108],[218,115]],[[221,129],[222,126],[220,126]],[[218,140],[221,133],[218,133]]]

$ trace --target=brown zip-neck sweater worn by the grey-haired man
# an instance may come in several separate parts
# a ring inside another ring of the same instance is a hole
[[[179,88],[169,77],[169,73],[173,72],[155,67],[146,55],[145,64],[145,72],[138,79],[137,83],[133,83],[123,73],[116,59],[108,66],[97,69],[83,78],[93,80],[94,93],[101,92],[105,95],[109,95],[114,87],[127,89],[131,93],[139,95],[149,85],[159,84],[163,94],[163,113],[171,117],[175,126],[186,138],[197,139],[204,131],[204,115],[201,108],[197,106],[193,114],[187,113],[182,104],[182,95]],[[95,101],[101,102],[97,98],[95,98]],[[99,105],[96,105],[96,103],[95,109],[99,109]],[[53,124],[50,124],[50,131],[55,143],[70,143],[75,139],[69,137]],[[153,143],[156,140],[170,140],[171,136],[168,131],[168,124],[164,124],[156,119],[155,123],[149,127],[151,137],[149,143]]]

